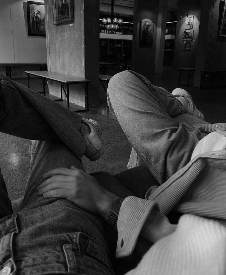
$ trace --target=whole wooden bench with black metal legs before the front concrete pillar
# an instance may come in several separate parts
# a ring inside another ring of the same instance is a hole
[[[43,93],[45,96],[45,86],[47,84],[48,80],[52,81],[57,81],[60,83],[60,99],[58,100],[63,100],[63,91],[64,94],[67,98],[67,103],[68,103],[68,109],[70,109],[70,102],[69,102],[69,84],[82,84],[83,88],[85,90],[85,108],[82,110],[78,110],[75,112],[84,112],[89,110],[89,101],[88,101],[88,83],[90,83],[90,80],[84,79],[81,77],[70,77],[66,76],[63,74],[59,73],[51,73],[51,72],[46,72],[46,71],[25,71],[27,73],[27,83],[28,83],[28,88],[30,88],[30,76],[34,75],[37,77],[41,77],[43,79]],[[65,86],[66,86],[66,91],[65,91]]]

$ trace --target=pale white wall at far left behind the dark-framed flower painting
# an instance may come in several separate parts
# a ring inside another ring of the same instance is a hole
[[[28,35],[26,1],[2,0],[0,10],[0,63],[46,63],[45,37]],[[5,67],[0,66],[0,71],[5,73]],[[12,67],[12,77],[26,77],[24,71]]]

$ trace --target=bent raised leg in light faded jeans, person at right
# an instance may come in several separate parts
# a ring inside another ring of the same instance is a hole
[[[166,89],[124,71],[111,78],[107,97],[131,145],[159,183],[189,162],[203,136],[171,118],[182,112],[182,105]]]

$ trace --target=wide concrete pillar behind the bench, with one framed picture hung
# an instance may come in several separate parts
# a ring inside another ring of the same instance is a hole
[[[74,2],[74,21],[54,25],[53,2],[45,1],[48,71],[90,79],[89,104],[99,103],[99,0]],[[49,92],[60,96],[56,82]],[[70,85],[70,101],[85,105],[82,85]]]

